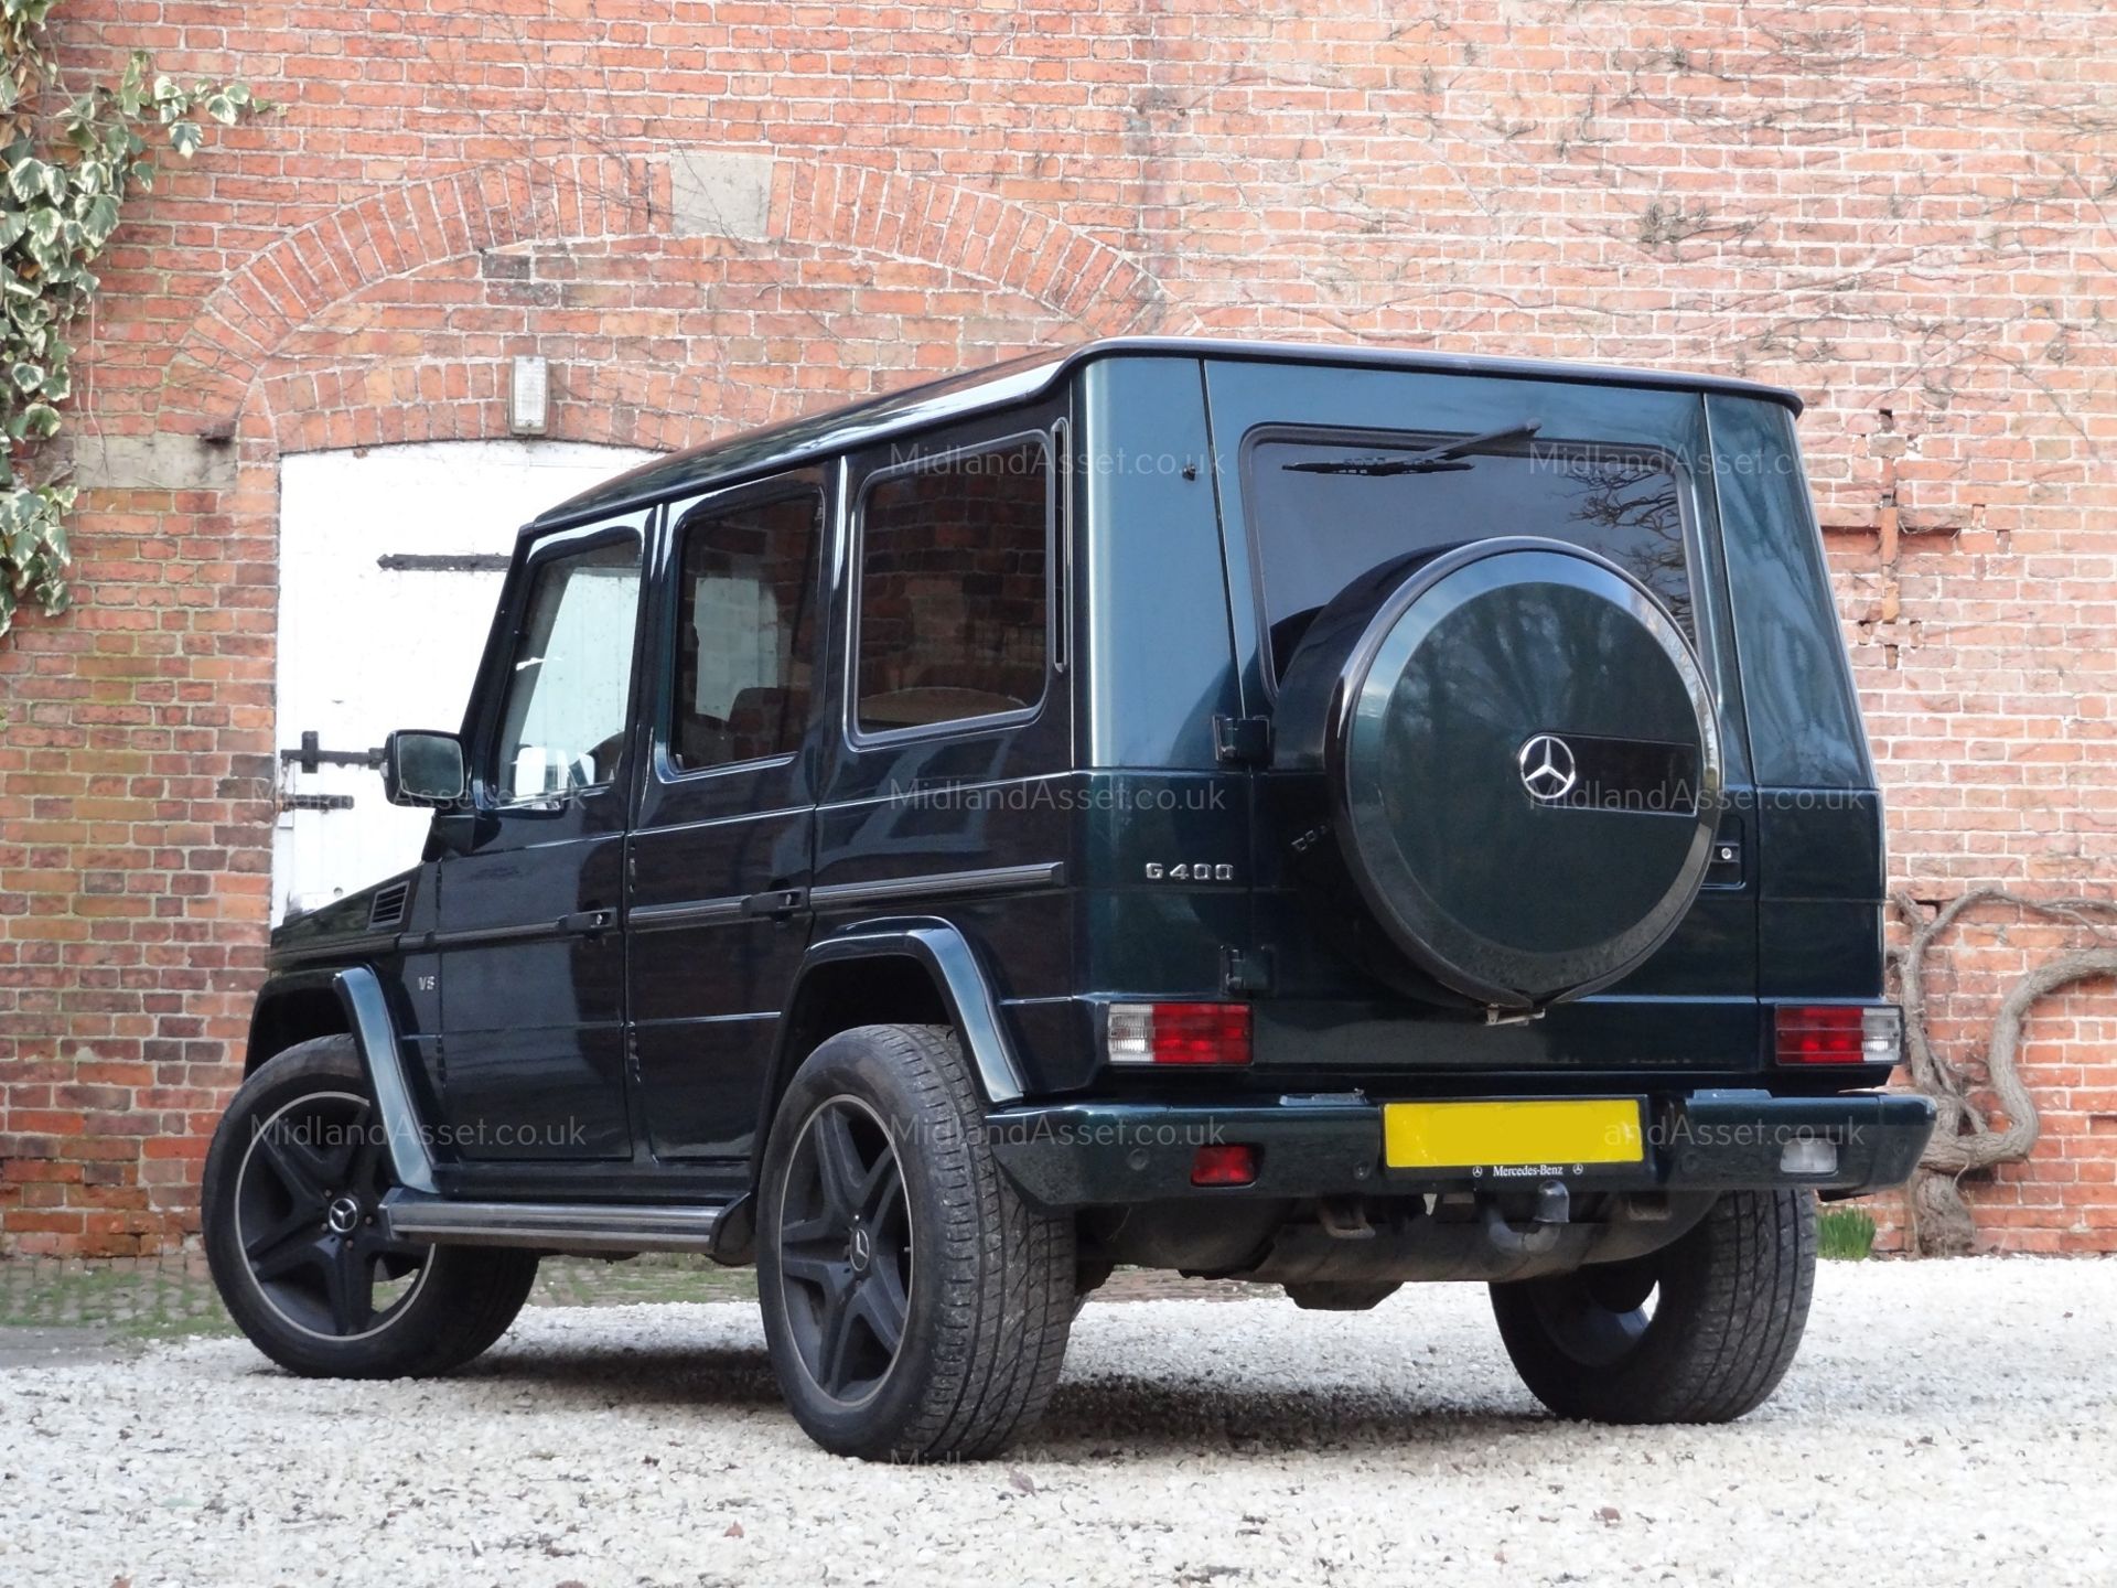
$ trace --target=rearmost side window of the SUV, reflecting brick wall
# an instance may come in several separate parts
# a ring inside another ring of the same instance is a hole
[[[1042,436],[881,476],[860,519],[855,724],[895,733],[1033,709],[1050,629]]]

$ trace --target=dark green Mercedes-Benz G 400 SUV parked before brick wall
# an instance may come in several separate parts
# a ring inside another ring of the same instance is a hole
[[[1931,1131],[1797,409],[1109,341],[553,508],[423,864],[273,938],[229,1309],[440,1372],[538,1253],[756,1262],[802,1427],[931,1459],[1118,1264],[1465,1279],[1554,1410],[1740,1416]]]

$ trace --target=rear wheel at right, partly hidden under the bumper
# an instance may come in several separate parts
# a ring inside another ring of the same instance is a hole
[[[1814,1279],[1814,1194],[1727,1192],[1662,1251],[1492,1285],[1492,1313],[1522,1383],[1560,1416],[1732,1423],[1787,1376]]]

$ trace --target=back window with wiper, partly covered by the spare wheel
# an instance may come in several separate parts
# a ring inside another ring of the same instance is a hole
[[[1666,453],[1514,438],[1406,470],[1461,440],[1342,430],[1251,434],[1243,493],[1274,678],[1315,614],[1361,574],[1490,536],[1548,536],[1609,557],[1698,642],[1683,491]]]

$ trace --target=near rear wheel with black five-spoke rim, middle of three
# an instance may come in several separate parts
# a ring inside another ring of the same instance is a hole
[[[1073,1224],[1023,1198],[982,1124],[955,1033],[931,1025],[830,1037],[779,1103],[758,1296],[788,1408],[826,1450],[978,1459],[1044,1414]]]

